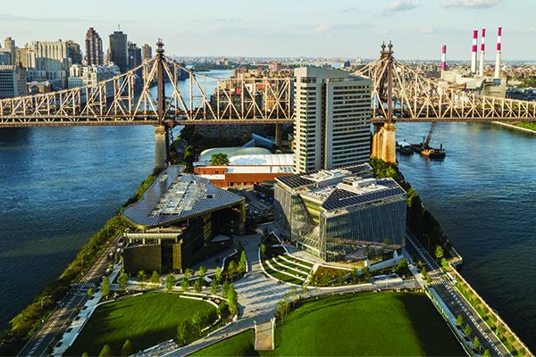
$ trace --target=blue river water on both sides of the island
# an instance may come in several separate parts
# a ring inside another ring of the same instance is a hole
[[[397,124],[397,139],[419,142],[429,129]],[[445,160],[398,156],[400,170],[463,256],[464,277],[536,351],[536,136],[440,123],[440,143]],[[153,127],[0,129],[0,328],[134,194],[154,150]]]

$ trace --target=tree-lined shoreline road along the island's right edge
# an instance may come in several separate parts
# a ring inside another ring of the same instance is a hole
[[[432,278],[431,289],[440,296],[443,303],[448,306],[448,310],[452,315],[455,317],[462,315],[464,318],[464,328],[467,323],[473,328],[471,341],[467,342],[473,342],[474,336],[478,336],[478,340],[482,345],[481,353],[485,350],[489,350],[492,356],[510,355],[506,347],[500,342],[498,337],[495,336],[486,322],[482,320],[478,312],[473,309],[471,303],[460,294],[456,286],[454,286],[450,278],[448,278],[448,275],[440,270],[439,264],[433,260],[431,254],[424,249],[423,245],[421,245],[409,229],[406,229],[406,252],[411,256],[414,256],[415,254],[417,260],[423,262],[423,266],[426,267],[426,270]]]

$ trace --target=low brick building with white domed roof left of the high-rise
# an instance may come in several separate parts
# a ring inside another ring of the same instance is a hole
[[[227,154],[229,164],[212,165],[212,154]],[[292,154],[272,154],[262,147],[225,147],[205,150],[194,162],[194,173],[217,187],[261,185],[294,172]]]

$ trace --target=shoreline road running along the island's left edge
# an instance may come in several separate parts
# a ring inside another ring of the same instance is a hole
[[[107,259],[108,253],[113,252],[116,248],[115,243],[119,240],[121,234],[117,234],[113,237],[112,241],[106,246],[105,251],[101,253],[96,261],[89,267],[86,274],[80,279],[80,281],[71,286],[71,290],[63,297],[63,300],[59,301],[56,308],[48,316],[43,325],[38,331],[29,339],[29,342],[22,348],[21,352],[17,356],[46,356],[46,345],[55,345],[54,336],[60,329],[65,332],[65,321],[71,318],[74,320],[76,315],[74,309],[79,306],[80,309],[88,301],[88,290],[91,286],[96,286],[98,280],[105,274],[105,270],[108,268],[108,263],[111,262]]]

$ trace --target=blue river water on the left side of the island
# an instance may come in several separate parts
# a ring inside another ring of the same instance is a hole
[[[206,74],[229,78],[231,71]],[[207,79],[205,86],[212,94],[216,81]],[[189,81],[178,87],[188,104]],[[156,87],[151,92],[156,98]],[[171,93],[172,84],[166,83],[166,94]],[[180,129],[173,130],[174,137]],[[154,131],[151,126],[0,129],[0,331],[62,274],[151,174]]]

